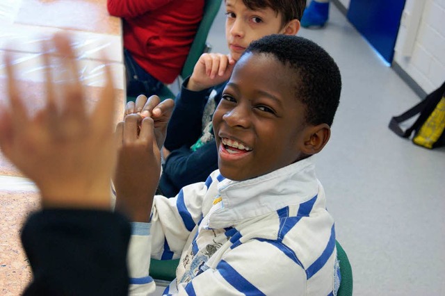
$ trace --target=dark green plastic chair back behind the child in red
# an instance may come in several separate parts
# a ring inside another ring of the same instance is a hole
[[[207,43],[207,36],[209,35],[211,25],[213,24],[213,21],[220,10],[221,2],[222,0],[205,0],[204,12],[200,25],[197,27],[196,35],[191,44],[190,51],[188,51],[186,62],[184,63],[181,73],[177,79],[179,88],[181,81],[193,73],[193,68],[195,67],[195,64],[197,63],[197,60],[199,60],[200,56],[211,51],[211,46]],[[174,94],[168,85],[165,84],[157,95],[161,101],[168,98],[175,99],[176,97],[176,94]],[[135,100],[136,97],[127,97],[127,101]]]

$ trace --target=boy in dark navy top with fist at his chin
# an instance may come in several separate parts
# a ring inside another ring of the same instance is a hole
[[[175,99],[163,149],[159,183],[163,195],[175,196],[218,168],[211,117],[234,64],[253,40],[270,34],[296,35],[305,6],[306,0],[225,0],[229,54],[203,54]],[[143,103],[136,106],[142,107]]]

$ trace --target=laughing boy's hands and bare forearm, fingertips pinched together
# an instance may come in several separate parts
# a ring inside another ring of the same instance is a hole
[[[160,150],[174,105],[172,99],[160,102],[157,96],[148,100],[139,96],[136,106],[127,104],[128,115],[116,129],[118,165],[113,178],[116,210],[127,213],[133,221],[149,220],[161,175]]]

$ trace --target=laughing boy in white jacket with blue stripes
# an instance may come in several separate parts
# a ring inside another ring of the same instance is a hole
[[[219,170],[170,199],[147,199],[146,183],[159,178],[149,161],[140,162],[138,172],[146,181],[118,182],[120,204],[138,197],[148,202],[133,206],[131,220],[151,215],[149,224],[135,224],[132,241],[140,245],[132,242],[129,251],[133,283],[149,279],[147,266],[140,267],[151,252],[181,258],[165,291],[171,295],[335,295],[334,221],[313,155],[330,138],[340,92],[336,63],[314,42],[289,35],[252,42],[213,115]],[[118,133],[120,151],[140,160],[147,153],[133,150],[137,122],[138,115],[127,116]],[[142,124],[139,137],[145,133]],[[131,179],[133,171],[122,174]],[[154,286],[145,282],[138,288]]]

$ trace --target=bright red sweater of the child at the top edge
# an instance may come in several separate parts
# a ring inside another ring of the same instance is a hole
[[[181,72],[202,19],[204,0],[108,0],[108,13],[124,19],[124,47],[163,83]]]

